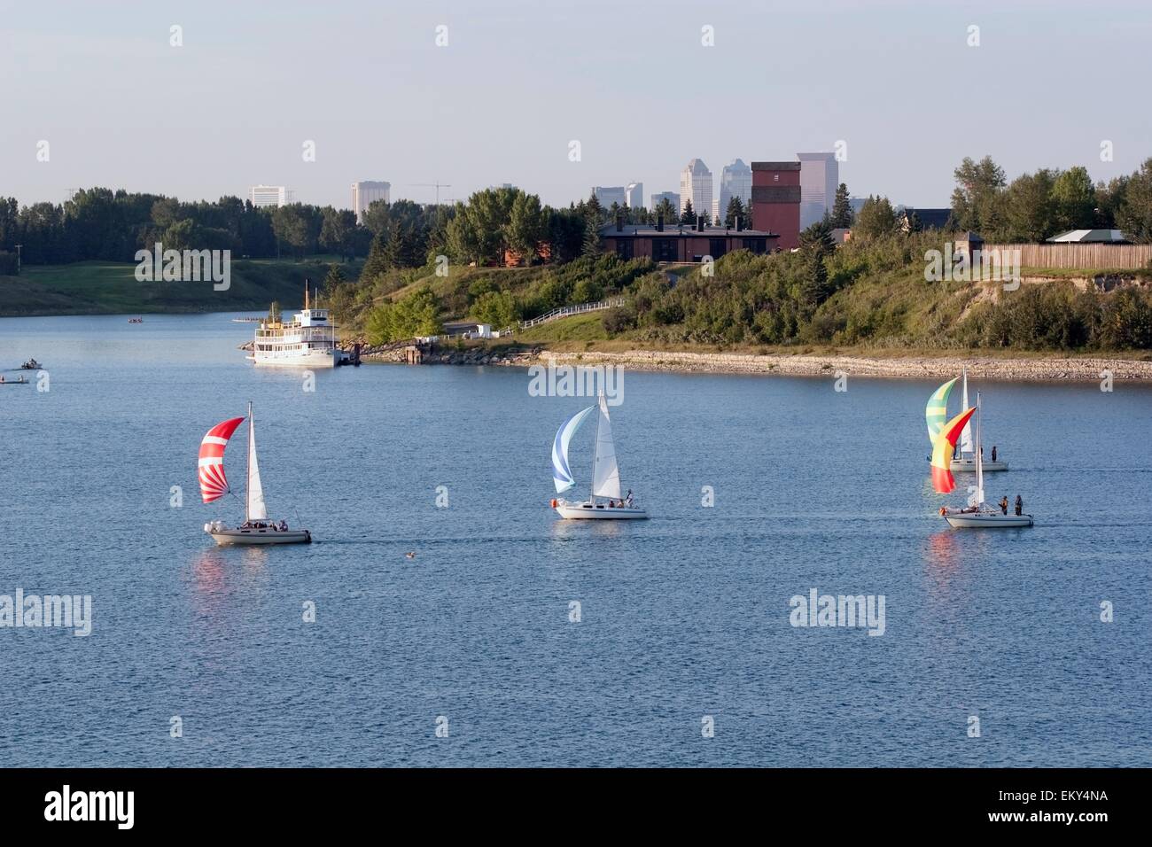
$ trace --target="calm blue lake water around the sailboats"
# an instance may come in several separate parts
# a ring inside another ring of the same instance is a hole
[[[309,393],[230,317],[0,320],[0,366],[51,379],[0,387],[0,595],[93,604],[89,637],[0,628],[6,764],[1152,764],[1147,385],[982,385],[1013,468],[988,497],[1037,517],[982,532],[937,515],[963,498],[929,484],[935,381],[628,373],[616,448],[653,520],[590,525],[547,507],[588,402],[506,368]],[[200,438],[249,400],[270,511],[312,545],[203,532],[242,506],[200,502]],[[884,595],[884,635],[793,627],[813,588]]]

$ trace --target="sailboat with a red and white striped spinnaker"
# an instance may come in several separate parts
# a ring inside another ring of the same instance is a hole
[[[228,439],[244,421],[248,421],[248,481],[244,497],[244,522],[232,529],[223,521],[210,521],[204,531],[217,544],[308,544],[312,534],[306,529],[288,529],[287,521],[270,521],[264,502],[264,485],[260,483],[260,466],[256,461],[256,419],[252,404],[248,404],[248,417],[234,417],[218,423],[200,441],[199,479],[204,502],[219,500],[230,492],[223,471],[223,452]]]

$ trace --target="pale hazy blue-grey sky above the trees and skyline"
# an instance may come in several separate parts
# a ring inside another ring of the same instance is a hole
[[[677,190],[694,157],[719,176],[736,157],[842,139],[852,194],[937,206],[964,156],[990,153],[1009,177],[1084,165],[1105,180],[1152,156],[1147,2],[100,7],[0,2],[0,195],[60,202],[99,184],[215,199],[264,182],[347,206],[350,182],[380,179],[394,198],[431,202],[414,183],[437,180],[452,184],[442,199],[511,182],[559,205],[593,184]]]

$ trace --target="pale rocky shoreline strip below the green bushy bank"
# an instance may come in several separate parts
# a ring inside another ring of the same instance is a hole
[[[364,361],[404,362],[409,345],[365,347]],[[673,373],[760,373],[787,377],[834,377],[836,372],[855,377],[939,378],[960,373],[967,368],[980,379],[1011,380],[1081,380],[1099,381],[1105,372],[1116,380],[1152,380],[1152,362],[1123,358],[993,358],[990,356],[908,356],[882,358],[819,354],[738,354],[675,353],[665,350],[626,350],[622,353],[588,350],[556,353],[543,347],[520,349],[433,348],[423,353],[423,364],[505,365],[526,368],[533,364],[619,365],[637,371]]]

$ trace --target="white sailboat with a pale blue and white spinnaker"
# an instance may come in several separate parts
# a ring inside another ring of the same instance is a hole
[[[556,485],[558,494],[562,494],[576,485],[568,467],[568,445],[579,425],[596,410],[596,406],[590,406],[577,411],[564,421],[556,431],[556,437],[552,443],[552,479]],[[600,498],[607,498],[607,502]],[[612,421],[608,418],[608,403],[604,394],[600,395],[599,421],[596,429],[591,496],[584,502],[554,499],[552,508],[561,517],[571,520],[627,521],[647,517],[645,509],[632,504],[631,491],[627,494],[621,492],[620,466],[616,462],[616,446],[612,440]]]

